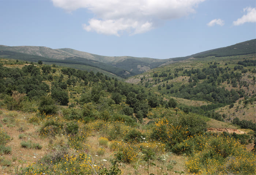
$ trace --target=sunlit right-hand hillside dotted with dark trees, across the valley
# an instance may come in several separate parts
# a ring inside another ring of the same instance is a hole
[[[185,98],[188,102],[182,103],[187,106],[196,107],[195,100],[208,103],[204,106],[224,114],[226,121],[238,117],[255,123],[255,64],[255,54],[191,58],[152,69],[126,82],[156,90],[163,98]],[[200,113],[201,109],[190,111]]]

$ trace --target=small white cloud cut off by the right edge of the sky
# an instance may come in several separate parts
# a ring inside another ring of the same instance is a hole
[[[247,14],[238,18],[233,22],[235,26],[242,25],[244,23],[255,23],[256,22],[256,9],[251,7],[244,8],[244,12],[247,11]]]

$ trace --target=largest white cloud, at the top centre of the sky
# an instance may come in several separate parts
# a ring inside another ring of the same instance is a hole
[[[53,5],[67,12],[79,8],[95,15],[86,31],[99,34],[130,35],[147,32],[165,20],[172,20],[195,13],[195,7],[204,0],[52,0]]]

